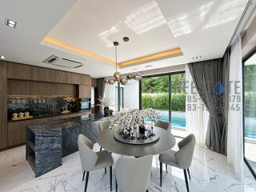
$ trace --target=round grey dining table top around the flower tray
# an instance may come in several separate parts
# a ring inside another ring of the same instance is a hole
[[[158,141],[143,145],[120,142],[114,138],[114,133],[115,129],[102,130],[98,135],[99,146],[114,154],[126,156],[142,157],[148,154],[162,154],[173,148],[176,142],[174,135],[170,131],[159,127],[154,127],[154,133],[160,136]]]

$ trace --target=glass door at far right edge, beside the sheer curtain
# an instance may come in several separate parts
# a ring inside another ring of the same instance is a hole
[[[244,61],[244,156],[247,165],[256,172],[256,53]]]

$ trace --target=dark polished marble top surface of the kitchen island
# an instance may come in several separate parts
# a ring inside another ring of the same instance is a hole
[[[55,129],[63,129],[63,128],[69,128],[74,127],[77,124],[85,123],[85,122],[97,122],[102,120],[103,118],[109,118],[111,116],[103,116],[100,114],[88,114],[88,115],[82,115],[75,118],[65,118],[60,120],[54,120],[50,122],[42,122],[37,124],[32,124],[26,126],[28,129],[30,129],[34,134],[38,134],[41,132],[45,132],[47,130],[55,130]]]

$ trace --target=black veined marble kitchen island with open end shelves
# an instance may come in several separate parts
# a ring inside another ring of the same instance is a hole
[[[61,166],[62,157],[78,151],[79,134],[97,142],[98,122],[103,118],[91,114],[26,126],[26,160],[35,177]]]

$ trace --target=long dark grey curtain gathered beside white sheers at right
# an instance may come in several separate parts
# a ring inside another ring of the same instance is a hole
[[[194,85],[210,114],[206,146],[221,154],[226,154],[229,54],[227,50],[224,58],[188,64]]]

